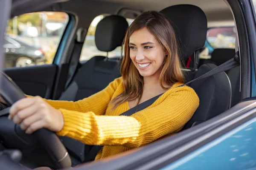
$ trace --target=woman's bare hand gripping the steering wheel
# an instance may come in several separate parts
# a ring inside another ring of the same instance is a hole
[[[22,130],[31,134],[38,129],[47,128],[53,132],[64,126],[61,111],[53,108],[40,96],[28,97],[17,101],[9,111],[9,119],[20,124]]]

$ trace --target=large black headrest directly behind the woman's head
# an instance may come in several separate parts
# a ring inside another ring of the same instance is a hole
[[[187,59],[204,46],[207,34],[207,18],[198,6],[176,5],[162,11],[172,23],[180,40],[181,56]]]

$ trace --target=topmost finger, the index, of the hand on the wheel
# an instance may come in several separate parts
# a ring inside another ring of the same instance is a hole
[[[12,107],[10,108],[8,118],[12,119],[13,116],[15,116],[15,114],[17,114],[18,111],[33,105],[36,102],[36,100],[37,100],[37,97],[20,99],[15,104],[13,104]]]

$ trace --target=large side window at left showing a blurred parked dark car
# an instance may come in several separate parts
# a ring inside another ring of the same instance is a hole
[[[4,67],[51,64],[68,21],[64,12],[34,12],[9,20]]]

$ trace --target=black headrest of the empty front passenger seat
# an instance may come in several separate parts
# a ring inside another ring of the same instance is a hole
[[[110,15],[103,18],[95,31],[95,44],[100,51],[113,51],[122,45],[128,22],[124,17]]]

